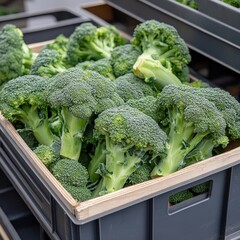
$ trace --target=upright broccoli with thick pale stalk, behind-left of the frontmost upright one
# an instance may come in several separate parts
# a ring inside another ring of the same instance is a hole
[[[48,99],[59,109],[63,123],[61,156],[74,160],[79,159],[83,135],[91,117],[123,103],[112,81],[97,72],[77,67],[51,79]]]

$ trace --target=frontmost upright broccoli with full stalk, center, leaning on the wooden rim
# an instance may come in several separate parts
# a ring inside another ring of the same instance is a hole
[[[105,137],[106,161],[98,173],[102,178],[93,192],[99,196],[124,187],[129,176],[148,157],[165,151],[166,134],[138,109],[122,105],[100,113],[95,129]]]

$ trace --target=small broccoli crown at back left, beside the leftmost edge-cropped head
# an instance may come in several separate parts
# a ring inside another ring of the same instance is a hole
[[[43,49],[32,64],[30,74],[52,77],[65,70],[60,53],[53,49]]]

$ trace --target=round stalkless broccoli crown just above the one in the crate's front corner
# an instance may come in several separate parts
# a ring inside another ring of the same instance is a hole
[[[62,184],[83,187],[89,180],[87,169],[78,161],[61,159],[52,168],[53,176]]]

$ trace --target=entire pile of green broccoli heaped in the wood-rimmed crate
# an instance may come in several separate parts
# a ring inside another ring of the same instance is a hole
[[[38,54],[6,25],[0,42],[0,111],[78,201],[169,175],[240,138],[240,103],[190,83],[189,49],[168,24],[140,23],[127,42],[113,26],[84,23]]]

